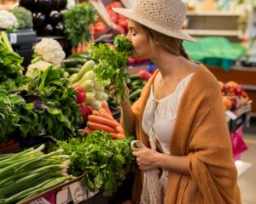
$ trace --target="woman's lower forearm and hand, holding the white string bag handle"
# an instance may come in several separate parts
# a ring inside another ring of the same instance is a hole
[[[149,148],[135,150],[132,155],[137,157],[137,164],[143,171],[160,167],[168,171],[189,175],[188,156],[170,156]]]

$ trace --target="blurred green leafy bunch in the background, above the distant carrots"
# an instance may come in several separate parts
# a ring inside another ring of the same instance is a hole
[[[97,19],[96,9],[90,3],[79,3],[64,13],[65,33],[72,47],[78,48],[90,41],[90,25]]]

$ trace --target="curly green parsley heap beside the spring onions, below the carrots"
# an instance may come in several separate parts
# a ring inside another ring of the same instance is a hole
[[[112,195],[125,176],[134,171],[132,139],[113,140],[109,133],[95,131],[83,139],[58,142],[55,148],[62,148],[70,155],[70,173],[76,176],[85,173],[83,184],[89,190],[102,190],[103,195]]]

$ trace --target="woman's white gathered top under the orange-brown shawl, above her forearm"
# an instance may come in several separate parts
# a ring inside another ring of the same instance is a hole
[[[177,109],[183,92],[194,73],[184,77],[175,91],[163,99],[154,99],[153,85],[143,113],[143,131],[149,136],[154,132],[158,148],[164,154],[170,154],[171,135],[177,116]],[[152,127],[153,131],[150,131]]]

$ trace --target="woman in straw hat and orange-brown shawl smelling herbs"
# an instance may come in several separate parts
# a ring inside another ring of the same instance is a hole
[[[195,41],[182,31],[185,5],[137,0],[131,10],[113,10],[129,19],[132,57],[151,59],[159,68],[134,105],[128,98],[120,103],[125,133],[136,134],[146,146],[133,151],[138,165],[133,202],[241,203],[218,81],[183,49],[183,40]],[[144,190],[145,173],[157,169],[161,176],[153,186],[160,191]]]

